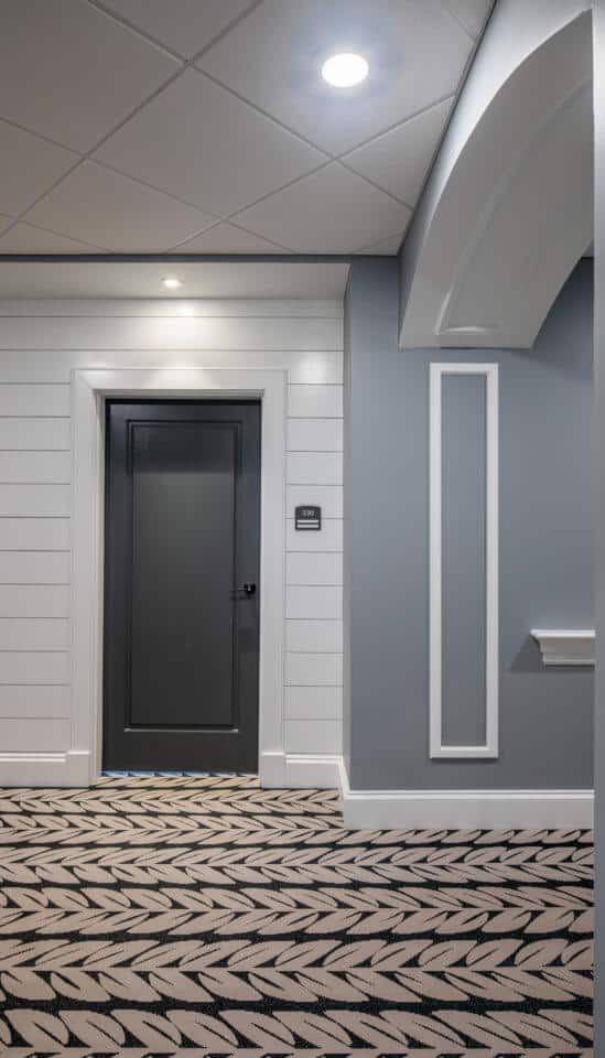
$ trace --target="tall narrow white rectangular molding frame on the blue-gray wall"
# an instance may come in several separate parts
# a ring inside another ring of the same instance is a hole
[[[486,380],[486,741],[478,746],[443,745],[442,635],[442,378],[478,375]],[[478,758],[498,756],[498,365],[431,364],[430,368],[430,756]]]

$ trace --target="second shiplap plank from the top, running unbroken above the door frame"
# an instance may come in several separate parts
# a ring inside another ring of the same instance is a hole
[[[0,327],[2,349],[301,349],[343,348],[343,322],[310,317],[17,317]]]

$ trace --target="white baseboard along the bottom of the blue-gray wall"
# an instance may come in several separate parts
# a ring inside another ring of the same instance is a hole
[[[350,830],[590,830],[592,790],[352,790],[339,785]]]

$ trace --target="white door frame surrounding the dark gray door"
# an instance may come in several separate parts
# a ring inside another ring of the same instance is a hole
[[[72,748],[79,781],[100,771],[102,720],[104,404],[107,397],[258,398],[261,415],[259,771],[283,755],[285,371],[91,368],[72,371]],[[74,784],[76,785],[76,784]]]

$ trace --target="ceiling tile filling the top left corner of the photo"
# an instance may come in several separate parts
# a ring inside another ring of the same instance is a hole
[[[2,0],[0,117],[86,152],[179,61],[83,0]]]

